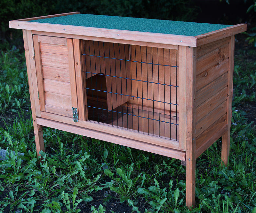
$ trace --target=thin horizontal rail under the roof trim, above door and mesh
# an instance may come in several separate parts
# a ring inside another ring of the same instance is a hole
[[[124,40],[124,39],[101,38],[101,37],[76,35],[76,34],[71,35],[71,34],[63,34],[63,33],[37,31],[37,30],[32,30],[32,33],[37,35],[47,35],[47,36],[73,38],[73,39],[90,40],[90,41],[98,41],[98,42],[110,42],[110,43],[119,43],[119,44],[140,45],[145,47],[178,49],[178,45],[174,45],[174,44],[164,44],[164,43],[161,44],[161,43],[154,43],[154,42],[141,42],[141,41],[132,41],[132,40]]]

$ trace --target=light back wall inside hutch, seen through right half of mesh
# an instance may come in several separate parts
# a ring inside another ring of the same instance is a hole
[[[132,102],[166,114],[179,111],[178,50],[135,45],[130,49]]]

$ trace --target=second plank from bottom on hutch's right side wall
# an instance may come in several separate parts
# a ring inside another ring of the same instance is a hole
[[[210,111],[204,118],[196,121],[196,137],[206,130],[211,124],[218,120],[221,116],[227,112],[227,101],[225,100],[215,109]]]

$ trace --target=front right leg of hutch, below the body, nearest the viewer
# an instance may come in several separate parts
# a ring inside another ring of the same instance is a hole
[[[186,205],[191,210],[191,208],[195,208],[196,158],[187,158],[186,164]]]

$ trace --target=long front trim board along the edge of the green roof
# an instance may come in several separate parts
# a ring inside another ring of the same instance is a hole
[[[147,33],[128,30],[80,27],[25,21],[9,21],[9,27],[16,29],[28,29],[52,33],[70,34],[70,38],[73,38],[72,35],[86,35],[92,37],[106,38],[106,40],[103,39],[103,41],[108,41],[108,38],[112,38],[118,40],[132,40],[139,42],[152,42],[160,44],[173,44],[196,47],[196,38],[194,36],[185,35]]]

